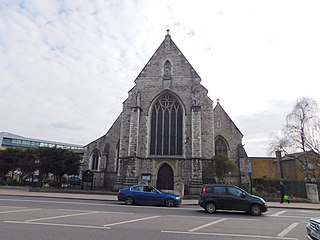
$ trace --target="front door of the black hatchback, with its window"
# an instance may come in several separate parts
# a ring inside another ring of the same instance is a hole
[[[226,206],[230,210],[239,210],[239,211],[247,211],[250,207],[250,201],[240,188],[235,186],[227,187],[227,200]]]

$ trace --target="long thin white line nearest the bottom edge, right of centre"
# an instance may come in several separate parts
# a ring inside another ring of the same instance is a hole
[[[289,238],[289,237],[274,237],[274,236],[244,235],[244,234],[228,234],[228,233],[204,233],[204,232],[180,232],[180,231],[161,231],[161,232],[162,233],[173,233],[173,234],[225,236],[225,237],[235,237],[235,238],[243,237],[243,238],[258,238],[258,239],[299,240],[299,238]]]

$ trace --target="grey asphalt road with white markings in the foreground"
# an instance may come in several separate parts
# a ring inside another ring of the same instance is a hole
[[[1,240],[306,239],[319,210],[272,208],[262,216],[207,214],[199,206],[126,206],[117,201],[0,196]]]

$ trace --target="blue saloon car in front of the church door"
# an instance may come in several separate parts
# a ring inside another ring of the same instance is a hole
[[[135,185],[120,189],[118,192],[118,200],[128,205],[150,204],[172,207],[181,204],[181,198],[178,195],[161,192],[155,187],[148,185]]]

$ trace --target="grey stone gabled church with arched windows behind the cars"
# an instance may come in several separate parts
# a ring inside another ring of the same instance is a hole
[[[94,186],[117,190],[150,184],[179,195],[198,193],[202,171],[217,153],[239,167],[246,181],[243,134],[169,35],[135,79],[121,114],[107,133],[85,146],[84,169]]]

